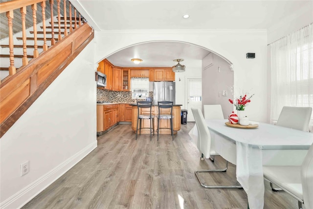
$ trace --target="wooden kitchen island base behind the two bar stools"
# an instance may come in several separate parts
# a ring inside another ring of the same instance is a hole
[[[138,116],[138,108],[136,104],[132,104],[132,129],[136,131],[137,127],[137,116]],[[173,130],[174,134],[177,134],[177,131],[180,130],[180,106],[182,105],[173,105]],[[148,109],[146,109],[148,110]],[[143,111],[145,111],[143,109]],[[139,114],[149,114],[149,112],[142,112]],[[170,114],[170,109],[161,109],[161,114]],[[154,133],[156,134],[157,130],[157,115],[158,115],[158,107],[157,105],[152,106],[151,115],[154,117]],[[149,119],[142,119],[141,128],[149,128],[150,127],[150,120]],[[170,120],[161,119],[160,120],[160,128],[170,128],[171,123]],[[149,129],[142,129],[141,134],[150,134]],[[170,129],[160,129],[159,134],[171,134]]]

